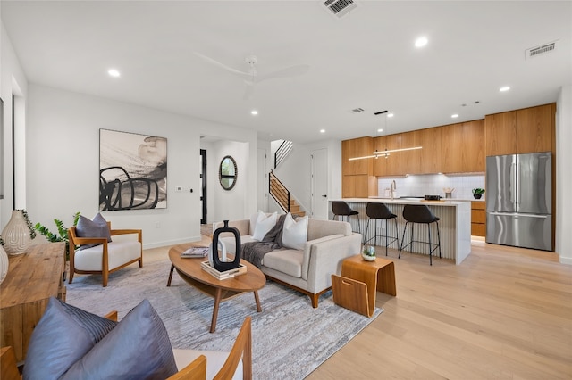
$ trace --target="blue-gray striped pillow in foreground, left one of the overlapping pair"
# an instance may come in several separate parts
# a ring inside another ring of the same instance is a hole
[[[23,379],[57,379],[117,322],[50,298],[29,339]]]

